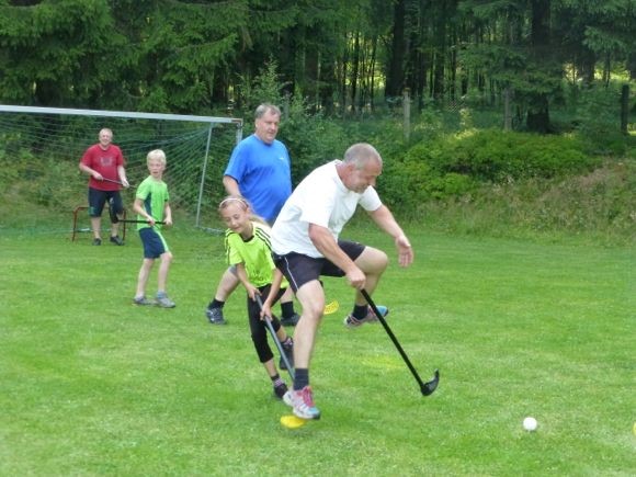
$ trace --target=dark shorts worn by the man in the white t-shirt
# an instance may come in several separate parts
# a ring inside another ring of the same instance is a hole
[[[355,261],[365,246],[349,240],[338,240],[338,246],[351,260]],[[319,280],[320,276],[344,276],[344,272],[326,258],[319,259],[292,252],[285,255],[273,253],[274,263],[283,272],[289,286],[296,293],[305,283]]]

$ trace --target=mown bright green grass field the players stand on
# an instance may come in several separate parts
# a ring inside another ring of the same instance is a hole
[[[228,326],[203,316],[219,237],[167,232],[168,310],[130,305],[135,234],[3,234],[0,475],[634,475],[634,249],[410,230],[401,270],[387,237],[351,231],[389,252],[374,297],[441,385],[422,397],[379,326],[344,329],[351,289],[327,280],[341,309],[311,370],[323,417],[297,431],[279,423],[243,292]]]

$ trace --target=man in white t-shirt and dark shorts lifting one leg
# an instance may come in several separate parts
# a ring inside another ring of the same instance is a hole
[[[355,144],[342,161],[334,160],[309,173],[287,198],[272,227],[274,261],[303,306],[294,333],[292,391],[294,413],[303,419],[320,418],[309,387],[309,363],[325,308],[320,275],[344,276],[356,288],[353,311],[344,319],[347,327],[377,321],[359,291],[373,293],[388,258],[382,250],[339,239],[359,204],[395,239],[399,264],[408,266],[413,261],[408,238],[374,189],[381,173],[377,150],[368,144]],[[378,306],[378,310],[388,313],[386,307]]]

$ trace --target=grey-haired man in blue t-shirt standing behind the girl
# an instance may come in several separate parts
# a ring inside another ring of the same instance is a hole
[[[264,103],[257,107],[254,134],[235,147],[223,178],[227,193],[247,198],[252,211],[270,225],[292,194],[289,154],[285,145],[276,139],[280,123],[281,110],[277,106]],[[209,322],[225,323],[223,306],[239,283],[236,271],[230,266],[205,310]],[[291,292],[281,298],[281,322],[295,326],[299,317],[294,311]]]

